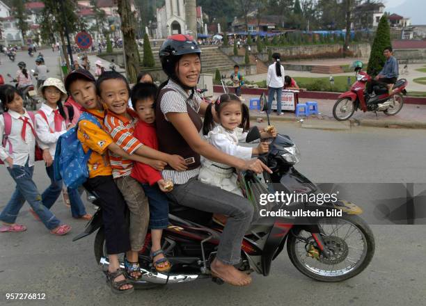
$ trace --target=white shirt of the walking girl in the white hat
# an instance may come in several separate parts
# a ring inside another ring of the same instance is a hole
[[[56,106],[56,109],[58,109],[58,106]],[[39,113],[36,113],[37,136],[40,139],[40,142],[43,145],[45,145],[45,147],[49,147],[49,152],[52,155],[52,157],[54,157],[55,150],[56,150],[56,142],[58,142],[59,136],[67,132],[67,128],[65,126],[65,120],[63,120],[62,122],[61,131],[55,131],[55,113],[54,113],[55,109],[43,103],[40,107],[40,111],[45,113],[49,124],[47,124],[46,120],[42,118],[42,116]],[[50,130],[54,132],[51,133]]]

